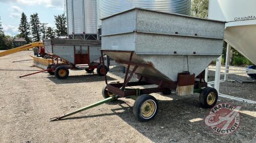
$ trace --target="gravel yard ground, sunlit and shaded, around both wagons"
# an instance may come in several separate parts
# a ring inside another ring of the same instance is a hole
[[[66,80],[48,73],[17,78],[39,70],[31,66],[32,61],[12,63],[31,59],[28,54],[32,51],[0,58],[0,142],[256,142],[254,104],[219,98],[219,103],[243,106],[239,129],[219,135],[203,121],[189,122],[204,119],[209,113],[209,109],[200,107],[198,94],[152,94],[159,101],[159,112],[146,123],[133,116],[131,99],[119,99],[49,122],[52,117],[101,100],[104,77],[72,70]],[[122,81],[121,71],[121,66],[112,66],[108,79]],[[255,101],[255,84],[222,82],[221,92]]]

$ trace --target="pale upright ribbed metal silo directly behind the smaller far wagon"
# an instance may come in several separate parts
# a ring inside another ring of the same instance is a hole
[[[66,0],[68,34],[72,39],[97,38],[95,0]]]

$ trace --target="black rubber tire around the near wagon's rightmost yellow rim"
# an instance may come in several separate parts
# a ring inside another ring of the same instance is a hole
[[[212,103],[211,105],[209,105],[209,104],[207,103],[207,96],[208,96],[208,94],[211,93],[211,92],[214,92],[214,93],[215,93],[216,98],[215,98],[214,103]],[[204,88],[204,89],[201,91],[201,94],[200,94],[200,96],[199,96],[199,101],[200,101],[201,106],[202,106],[203,108],[211,108],[211,107],[213,107],[213,106],[217,103],[217,101],[218,101],[218,92],[217,92],[217,90],[214,89],[214,88],[210,88],[210,87]]]

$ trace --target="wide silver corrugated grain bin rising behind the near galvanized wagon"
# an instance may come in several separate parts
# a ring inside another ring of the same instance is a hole
[[[100,19],[134,7],[190,15],[191,0],[97,0],[97,28]]]

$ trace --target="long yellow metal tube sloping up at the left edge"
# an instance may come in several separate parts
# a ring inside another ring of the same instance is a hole
[[[40,46],[44,46],[44,43],[43,42],[30,43],[30,44],[27,44],[27,45],[23,45],[23,46],[20,46],[20,47],[17,47],[17,48],[13,48],[13,49],[9,49],[9,50],[0,52],[0,57],[8,55],[8,54],[15,53],[15,52],[24,51],[24,50],[27,50],[27,49],[30,49],[30,48],[33,48],[33,47],[40,47]]]

